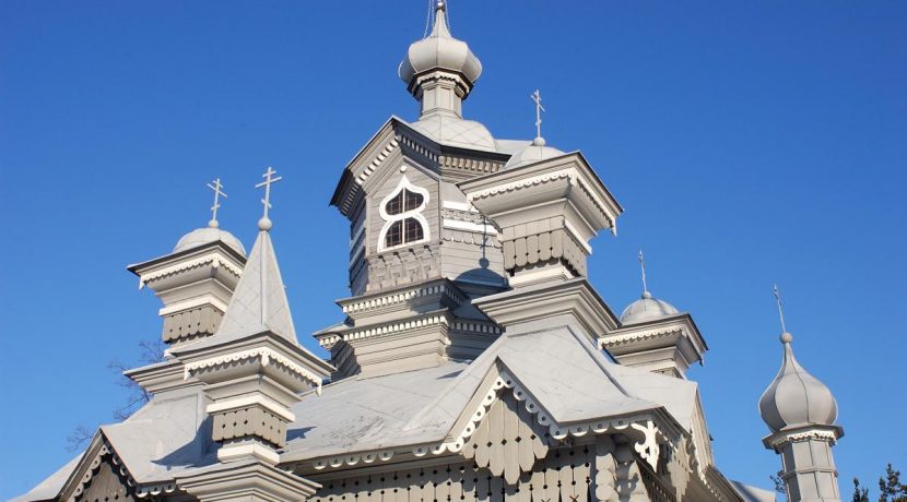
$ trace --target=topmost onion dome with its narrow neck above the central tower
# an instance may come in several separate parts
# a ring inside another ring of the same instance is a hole
[[[421,104],[420,118],[431,115],[462,118],[462,101],[482,74],[482,63],[466,41],[450,34],[444,0],[435,4],[432,32],[410,45],[399,74]]]

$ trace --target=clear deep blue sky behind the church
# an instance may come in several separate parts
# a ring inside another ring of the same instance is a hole
[[[160,334],[126,272],[209,218],[251,246],[272,165],[273,238],[301,342],[342,319],[341,169],[391,113],[425,1],[0,3],[0,499],[71,456],[126,398],[107,370]],[[454,0],[485,71],[466,115],[581,150],[626,207],[592,241],[614,310],[650,289],[693,313],[719,468],[769,487],[756,403],[781,347],[836,395],[841,490],[907,470],[907,3]]]

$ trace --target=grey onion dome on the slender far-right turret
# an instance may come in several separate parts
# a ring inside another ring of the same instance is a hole
[[[809,425],[831,426],[838,416],[832,391],[797,362],[791,340],[790,333],[781,333],[781,370],[759,399],[759,415],[771,432]]]

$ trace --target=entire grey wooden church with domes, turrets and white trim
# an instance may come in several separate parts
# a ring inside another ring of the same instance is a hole
[[[693,316],[646,288],[617,315],[587,280],[615,196],[541,117],[525,141],[464,119],[481,72],[438,2],[399,69],[419,119],[391,117],[331,199],[351,296],[314,334],[328,360],[298,344],[269,168],[248,254],[215,212],[129,267],[163,303],[165,360],[127,372],[153,397],[16,500],[774,500],[715,464],[686,376],[708,349]],[[834,397],[781,340],[765,446],[789,500],[837,501]]]

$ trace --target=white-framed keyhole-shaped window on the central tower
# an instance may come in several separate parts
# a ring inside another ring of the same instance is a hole
[[[381,201],[385,226],[378,251],[412,244],[428,239],[428,222],[421,214],[428,203],[428,191],[415,187],[403,176],[390,195]]]

